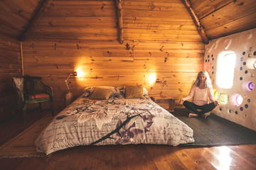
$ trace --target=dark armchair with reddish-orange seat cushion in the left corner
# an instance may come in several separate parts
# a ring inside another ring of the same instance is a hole
[[[20,113],[21,109],[23,112],[23,121],[26,122],[26,106],[32,103],[38,103],[40,112],[42,111],[41,103],[50,102],[52,115],[54,115],[53,108],[53,89],[46,84],[43,84],[41,77],[29,77],[14,79],[14,88],[17,94],[17,114]]]

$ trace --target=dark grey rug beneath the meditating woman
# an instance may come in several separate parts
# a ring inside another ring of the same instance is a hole
[[[183,146],[212,147],[256,144],[256,131],[210,114],[205,118],[188,118],[186,108],[176,108],[173,114],[193,129],[195,142]],[[234,115],[235,116],[235,115]]]

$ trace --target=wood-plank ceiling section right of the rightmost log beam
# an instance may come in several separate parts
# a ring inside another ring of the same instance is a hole
[[[255,0],[190,1],[211,40],[256,27]]]

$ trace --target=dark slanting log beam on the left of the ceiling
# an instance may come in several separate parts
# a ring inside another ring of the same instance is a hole
[[[28,34],[29,30],[33,27],[33,25],[36,23],[38,18],[45,12],[48,11],[50,8],[50,4],[52,3],[53,0],[43,0],[42,5],[36,11],[35,16],[31,19],[31,23],[28,24],[27,28],[23,31],[23,33],[18,37],[18,40],[23,41],[26,35]]]

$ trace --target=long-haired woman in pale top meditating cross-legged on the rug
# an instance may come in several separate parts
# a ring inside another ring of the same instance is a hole
[[[193,97],[192,102],[187,101]],[[212,101],[212,103],[209,103]],[[208,115],[204,115],[219,105],[218,101],[213,97],[213,85],[211,84],[209,74],[206,71],[198,73],[195,83],[191,87],[186,98],[182,98],[180,101],[183,106],[193,113],[189,113],[188,117],[198,117],[198,115],[206,118]]]

